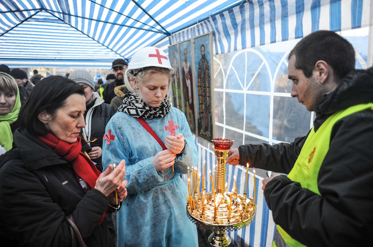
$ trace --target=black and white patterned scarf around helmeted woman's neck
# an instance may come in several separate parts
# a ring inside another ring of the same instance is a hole
[[[127,93],[124,96],[122,105],[118,108],[118,112],[127,113],[134,118],[164,118],[170,112],[170,101],[166,95],[161,105],[157,108],[148,106],[139,96],[135,93]]]

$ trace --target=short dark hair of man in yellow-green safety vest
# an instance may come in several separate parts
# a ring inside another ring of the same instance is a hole
[[[355,68],[355,50],[346,39],[335,32],[321,30],[301,39],[291,50],[288,59],[295,56],[295,68],[307,78],[312,76],[317,61],[325,61],[333,68],[334,80],[339,82]]]

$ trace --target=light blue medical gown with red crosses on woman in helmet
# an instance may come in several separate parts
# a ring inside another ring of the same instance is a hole
[[[180,174],[187,173],[187,167],[198,163],[197,149],[180,110],[171,107],[165,118],[145,120],[164,142],[170,135],[169,121],[183,133],[187,145],[172,167],[157,172],[152,159],[162,147],[133,117],[116,113],[106,125],[105,133],[111,130],[110,144],[104,140],[102,164],[104,170],[109,164],[126,161],[128,196],[117,212],[117,246],[136,247],[197,247],[198,237],[195,225],[187,218],[187,185]]]

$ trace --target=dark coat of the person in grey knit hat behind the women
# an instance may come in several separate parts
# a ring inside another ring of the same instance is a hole
[[[86,127],[82,129],[87,142],[91,147],[100,147],[102,149],[102,138],[105,134],[106,124],[115,114],[114,108],[103,102],[103,99],[97,92],[93,92],[93,106],[84,113]],[[102,172],[101,157],[92,160],[96,163],[98,171]]]

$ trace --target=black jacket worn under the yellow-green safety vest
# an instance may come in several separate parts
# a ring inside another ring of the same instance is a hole
[[[316,109],[314,130],[334,113],[373,102],[373,68],[354,70]],[[373,233],[373,109],[333,125],[329,150],[317,175],[320,195],[285,176],[264,195],[276,224],[306,246],[370,246]],[[243,145],[240,164],[289,173],[306,137],[289,144]]]

